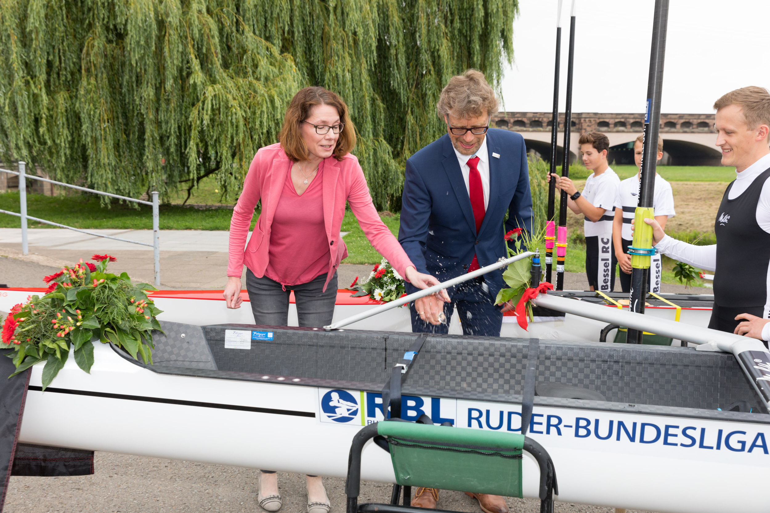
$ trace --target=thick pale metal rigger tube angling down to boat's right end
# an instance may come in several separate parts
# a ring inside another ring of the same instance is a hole
[[[735,355],[748,381],[770,411],[770,351],[756,338],[742,337],[726,331],[701,328],[684,322],[669,321],[642,315],[633,311],[621,311],[586,301],[575,301],[554,294],[539,294],[532,299],[534,305],[564,311],[567,314],[595,319],[631,329],[651,331],[656,335],[678,338],[699,345],[698,351],[725,351]]]

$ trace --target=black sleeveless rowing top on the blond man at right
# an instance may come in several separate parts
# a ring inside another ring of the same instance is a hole
[[[738,196],[728,199],[728,185],[714,223],[717,263],[714,302],[723,307],[762,307],[768,302],[770,233],[757,223],[757,205],[770,169]]]

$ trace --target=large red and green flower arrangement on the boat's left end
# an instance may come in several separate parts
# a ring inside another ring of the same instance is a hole
[[[15,305],[2,328],[0,348],[12,348],[16,371],[12,376],[45,361],[42,388],[72,356],[82,370],[91,371],[94,361],[92,338],[102,344],[112,342],[133,358],[142,355],[152,363],[152,330],[160,330],[156,315],[161,311],[144,291],[156,290],[146,283],[132,284],[123,272],[107,272],[115,261],[109,255],[93,255],[97,263],[82,258],[73,267],[46,276],[48,291],[42,297],[32,295],[22,305]]]

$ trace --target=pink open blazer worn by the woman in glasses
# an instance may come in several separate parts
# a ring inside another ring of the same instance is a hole
[[[270,246],[270,225],[281,197],[286,172],[292,164],[289,157],[281,149],[280,143],[259,148],[254,160],[249,166],[246,180],[243,182],[243,192],[233,209],[233,220],[230,222],[229,258],[227,275],[240,278],[245,264],[254,275],[262,278],[267,267]],[[254,231],[246,245],[246,236],[254,215],[256,202],[262,200],[262,212],[256,222]],[[367,180],[354,155],[345,155],[341,161],[336,158],[326,158],[323,162],[323,219],[326,225],[326,240],[329,241],[331,258],[329,260],[329,275],[326,285],[347,257],[347,248],[340,237],[345,215],[345,202],[350,203],[350,209],[363,229],[373,247],[393,265],[393,268],[404,276],[407,267],[412,264],[407,254],[401,248],[397,239],[377,215],[377,210],[369,194]],[[298,230],[302,226],[297,226]],[[246,245],[244,251],[243,246]],[[302,248],[296,248],[301,252]],[[293,255],[286,255],[291,258]]]

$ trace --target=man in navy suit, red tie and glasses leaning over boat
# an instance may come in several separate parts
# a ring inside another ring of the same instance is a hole
[[[506,257],[505,233],[531,230],[532,199],[524,138],[488,128],[497,98],[483,73],[451,78],[437,108],[447,133],[407,161],[398,240],[417,271],[446,281]],[[410,307],[412,331],[447,333],[457,308],[465,335],[500,336],[503,311],[511,308],[494,305],[506,287],[502,275],[500,269],[450,288],[449,302],[418,299]]]

